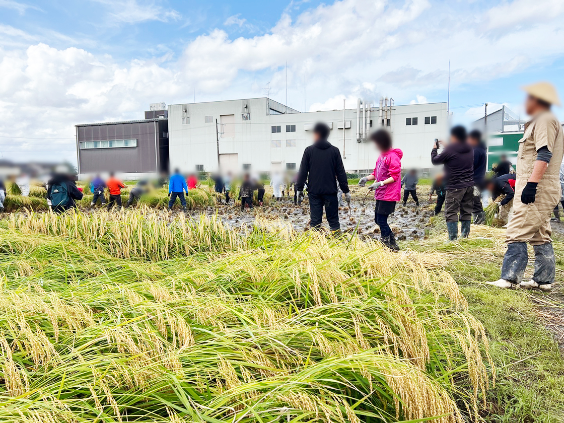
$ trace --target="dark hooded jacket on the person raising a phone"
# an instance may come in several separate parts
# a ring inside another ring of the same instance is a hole
[[[431,151],[431,162],[444,165],[447,190],[460,190],[474,185],[474,149],[466,143],[452,143],[438,154]]]

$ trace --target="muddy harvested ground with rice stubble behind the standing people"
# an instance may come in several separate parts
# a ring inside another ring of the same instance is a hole
[[[365,237],[378,238],[380,230],[374,222],[374,200],[366,199],[364,206],[360,196],[353,197],[351,208],[347,206],[339,209],[341,230],[347,232],[358,232]],[[425,226],[433,215],[433,205],[428,201],[421,201],[421,206],[416,207],[413,201],[407,206],[399,204],[395,213],[390,216],[390,227],[399,240],[422,239],[425,235]],[[291,198],[284,198],[280,202],[270,201],[269,205],[255,206],[252,210],[241,211],[239,206],[218,204],[205,210],[193,210],[189,215],[196,217],[205,213],[206,215],[218,215],[224,223],[231,228],[250,226],[257,217],[274,218],[286,221],[297,231],[306,231],[310,228],[310,210],[307,199],[302,205],[294,205]],[[323,221],[324,228],[329,230],[327,221]]]

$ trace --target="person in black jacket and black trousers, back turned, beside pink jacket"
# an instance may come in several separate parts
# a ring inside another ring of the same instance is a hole
[[[337,199],[337,181],[346,201],[351,200],[349,182],[341,153],[327,141],[329,126],[318,123],[314,126],[314,143],[303,152],[296,182],[296,195],[303,195],[303,186],[307,180],[307,194],[310,200],[311,227],[319,228],[325,215],[332,231],[340,231],[339,201]]]

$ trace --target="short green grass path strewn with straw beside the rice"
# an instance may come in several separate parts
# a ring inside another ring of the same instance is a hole
[[[486,328],[498,373],[483,417],[504,423],[564,421],[564,363],[539,307],[549,303],[561,310],[562,288],[547,297],[484,285],[499,278],[504,230],[473,226],[471,238],[459,243],[446,243],[445,232],[444,222],[436,221],[428,240],[408,245],[420,252],[440,252],[435,266],[459,282],[470,312]],[[554,243],[557,257],[563,257],[562,244],[559,238]],[[557,259],[557,280],[562,275],[564,262]],[[556,324],[562,328],[564,320]]]

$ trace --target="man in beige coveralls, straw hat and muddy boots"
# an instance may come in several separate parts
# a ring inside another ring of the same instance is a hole
[[[501,279],[490,282],[501,288],[552,289],[556,263],[550,235],[550,216],[562,195],[559,170],[564,149],[562,126],[552,112],[559,105],[556,89],[548,82],[524,87],[526,112],[532,116],[519,140],[514,214],[506,232],[507,252]],[[527,243],[535,250],[535,273],[522,281],[527,267]]]

